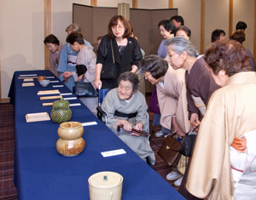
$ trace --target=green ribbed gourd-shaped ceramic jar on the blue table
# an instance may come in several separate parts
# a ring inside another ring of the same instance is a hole
[[[68,100],[55,100],[52,105],[53,109],[50,112],[50,117],[55,123],[68,122],[72,116],[72,111],[69,108]]]

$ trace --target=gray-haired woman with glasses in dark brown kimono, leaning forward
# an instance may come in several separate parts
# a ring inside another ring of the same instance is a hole
[[[166,45],[172,68],[186,70],[189,120],[195,129],[206,113],[207,101],[219,87],[214,82],[204,58],[197,60],[197,51],[189,40],[184,37],[172,37]]]

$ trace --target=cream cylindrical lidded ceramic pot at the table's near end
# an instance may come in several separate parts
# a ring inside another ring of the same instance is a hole
[[[120,200],[123,176],[115,172],[99,172],[88,179],[90,200]]]

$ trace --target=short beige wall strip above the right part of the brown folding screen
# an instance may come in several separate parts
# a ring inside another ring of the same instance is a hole
[[[167,0],[137,0],[137,9],[169,9]]]

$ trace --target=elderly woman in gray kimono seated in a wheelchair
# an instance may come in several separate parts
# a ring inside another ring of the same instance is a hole
[[[145,97],[137,91],[139,79],[131,71],[119,76],[118,88],[111,89],[102,101],[102,111],[106,112],[109,129],[117,134],[139,157],[154,165],[154,151],[149,145],[147,137],[131,133],[132,129],[148,130],[148,106]],[[123,129],[117,130],[118,126]]]

